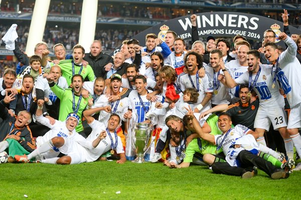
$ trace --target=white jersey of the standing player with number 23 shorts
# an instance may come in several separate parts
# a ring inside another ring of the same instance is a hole
[[[259,105],[263,107],[284,107],[284,98],[279,92],[278,82],[275,81],[274,88],[273,77],[271,75],[272,66],[267,64],[260,64],[261,71],[258,75],[258,79],[254,84],[254,91],[259,96]],[[273,72],[273,74],[275,74]],[[254,83],[255,76],[252,74],[251,86]],[[237,84],[248,84],[249,83],[249,71],[246,71],[241,76],[235,79]]]

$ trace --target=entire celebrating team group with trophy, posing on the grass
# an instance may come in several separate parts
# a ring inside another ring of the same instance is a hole
[[[59,40],[36,44],[31,57],[16,45],[16,70],[0,79],[0,152],[9,149],[9,162],[144,159],[170,168],[196,163],[242,178],[258,168],[287,178],[301,169],[293,150],[300,155],[301,96],[292,89],[301,84],[301,35],[289,35],[283,12],[282,32],[262,30],[257,49],[242,35],[231,38],[233,48],[223,37],[203,42],[195,14],[191,48],[172,30],[165,41],[149,33],[145,43],[124,39],[133,32],[102,32],[123,40],[113,56],[102,52],[101,40],[89,53],[74,44],[72,55]],[[152,140],[146,126],[154,128]],[[150,145],[145,154],[135,153],[141,142]]]

